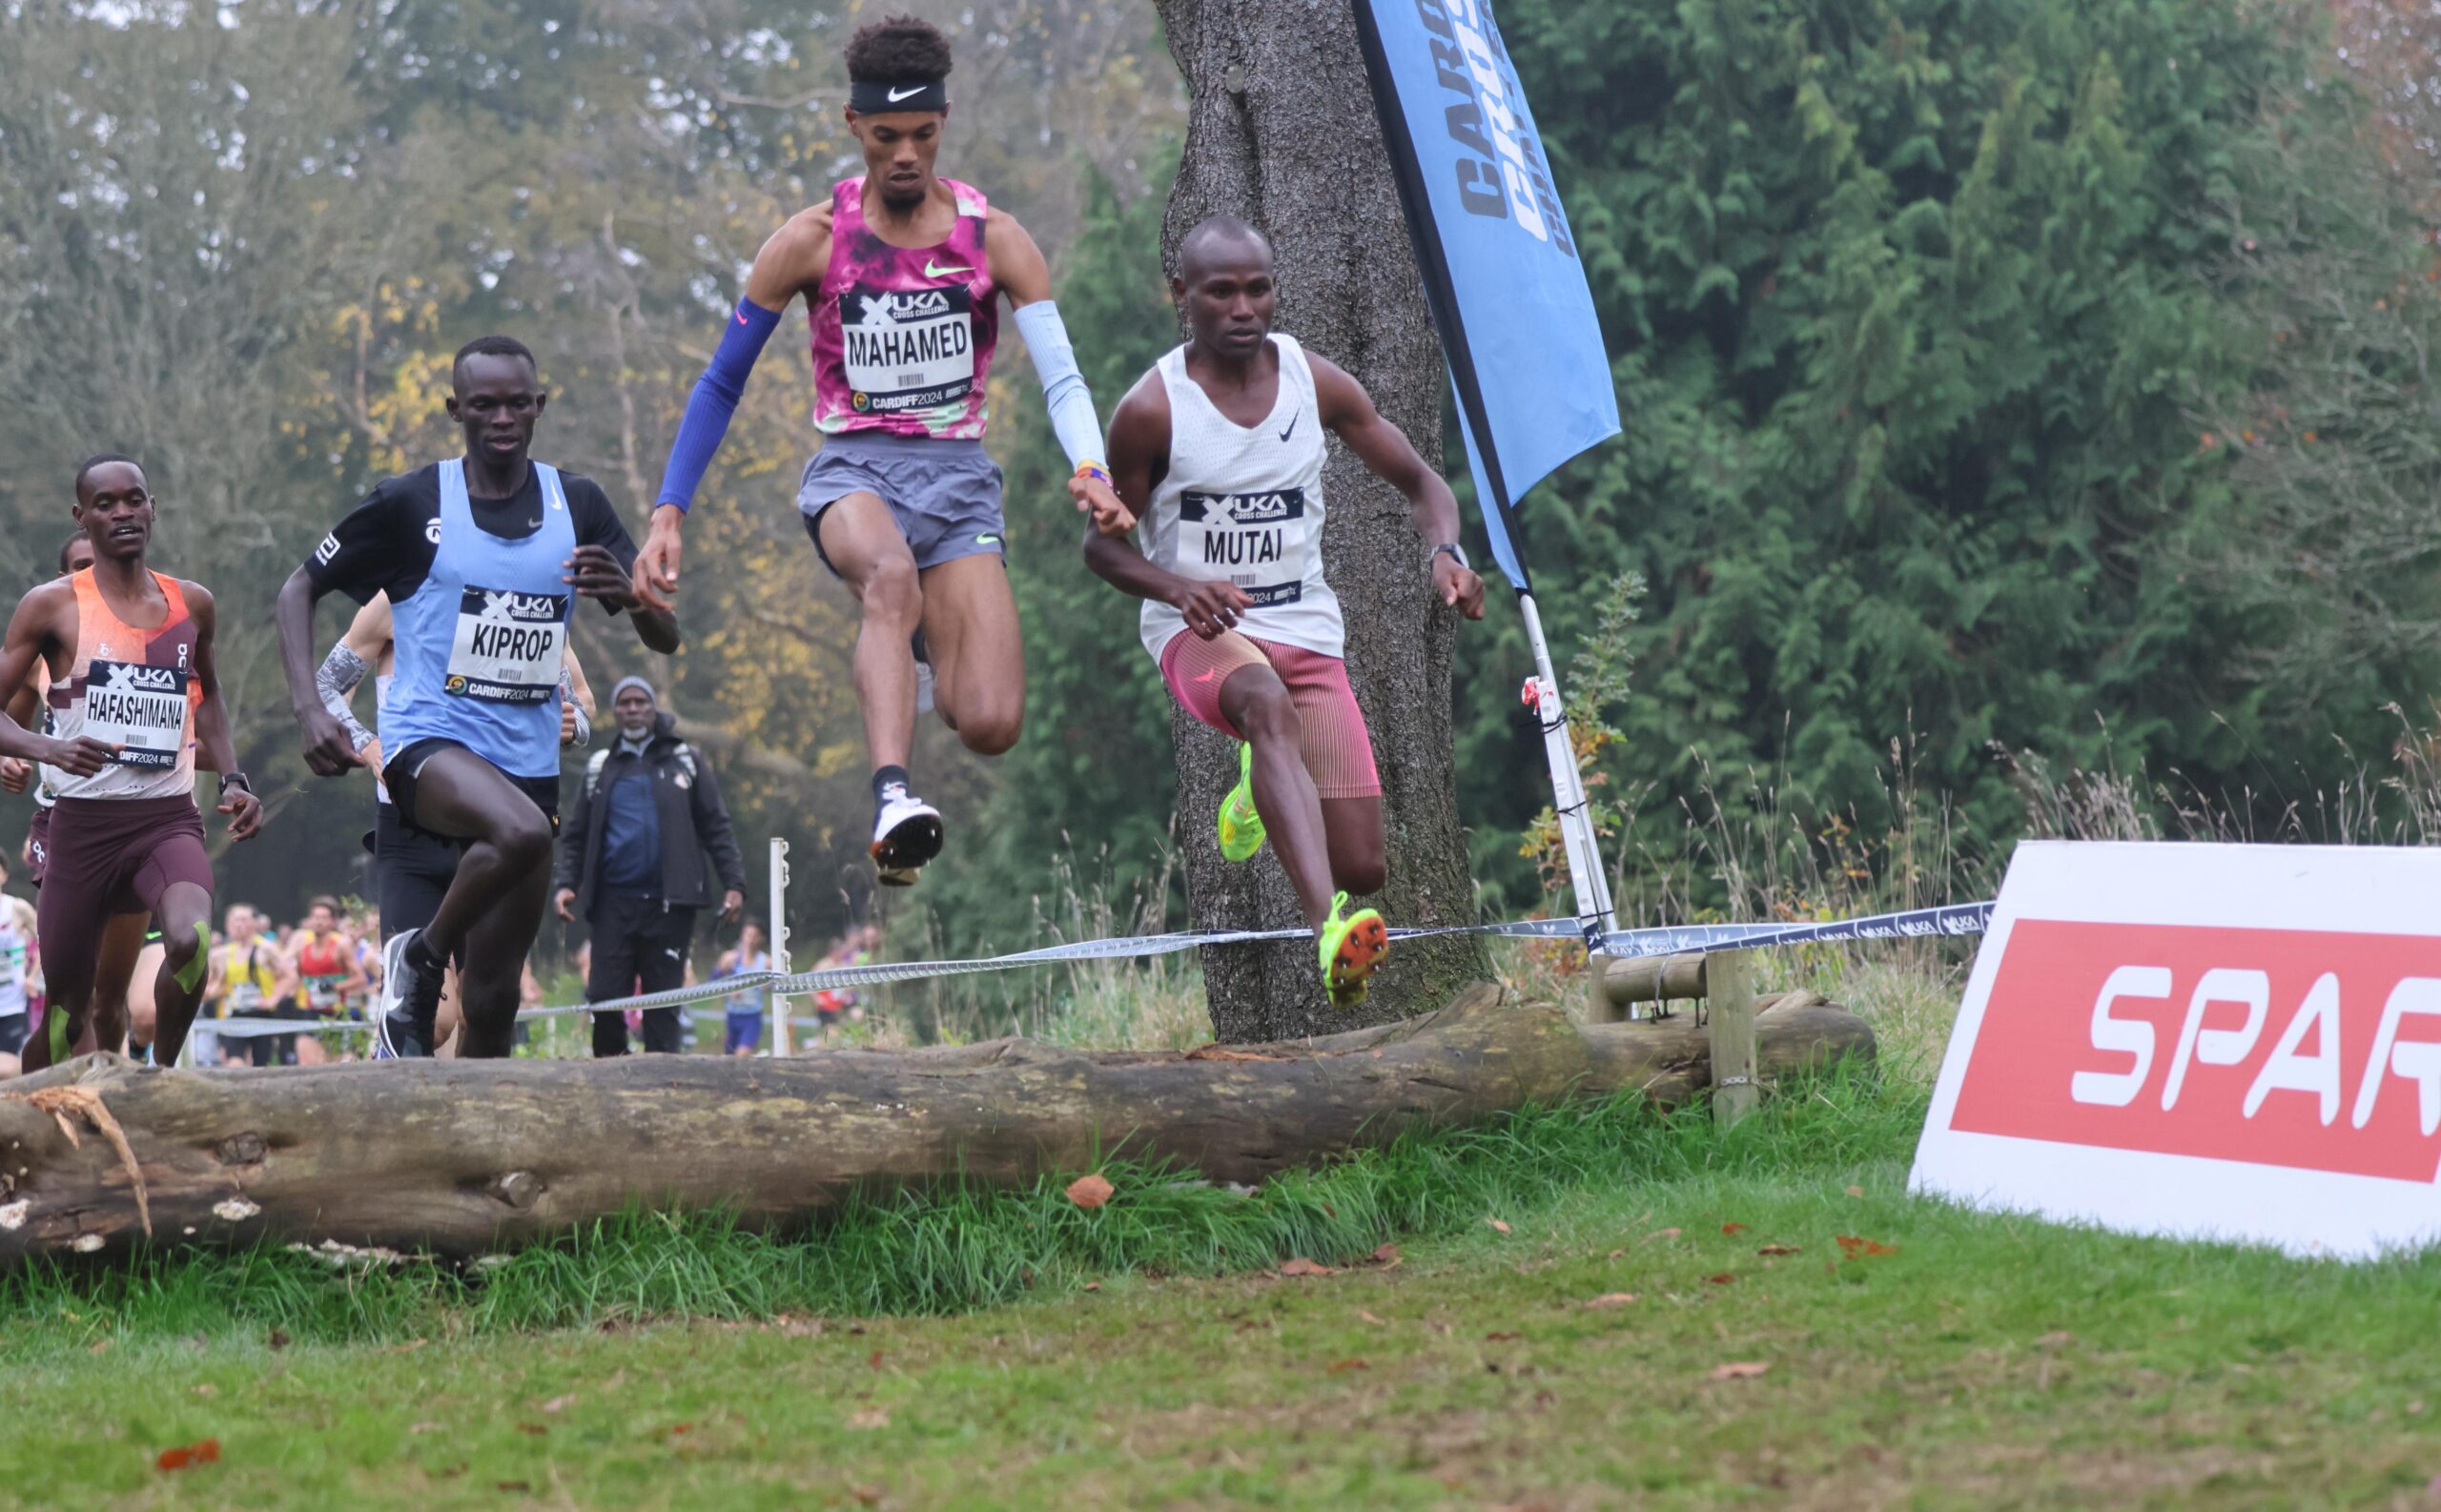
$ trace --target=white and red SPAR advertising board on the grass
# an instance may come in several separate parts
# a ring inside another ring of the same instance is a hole
[[[2295,1253],[2441,1239],[2441,851],[2019,846],[1911,1185]]]

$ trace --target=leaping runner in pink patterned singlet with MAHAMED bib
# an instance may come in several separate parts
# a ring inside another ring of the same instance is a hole
[[[1101,419],[1076,373],[1042,251],[1008,212],[932,163],[950,124],[950,39],[891,17],[847,41],[847,129],[864,173],[801,210],[754,254],[747,293],[669,446],[635,590],[669,605],[686,510],[754,358],[803,295],[823,449],[796,505],[823,566],[862,605],[857,700],[874,768],[874,868],[908,885],[940,854],[940,810],[915,797],[915,715],[937,707],[969,751],[998,756],[1025,722],[1018,605],[1001,566],[1001,468],[984,456],[986,378],[1006,295],[1042,378],[1069,495],[1096,529],[1135,524],[1101,463]]]

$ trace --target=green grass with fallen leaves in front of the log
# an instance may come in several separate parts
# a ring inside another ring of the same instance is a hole
[[[1723,1139],[1614,1102],[1257,1197],[1116,1171],[1098,1212],[942,1193],[796,1241],[627,1219],[481,1280],[17,1278],[0,1505],[2431,1505],[2441,1256],[1911,1200],[1921,1105],[1831,1085]]]

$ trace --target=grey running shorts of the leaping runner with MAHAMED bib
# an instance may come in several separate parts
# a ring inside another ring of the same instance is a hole
[[[1001,468],[984,454],[981,441],[879,432],[847,432],[823,441],[806,463],[796,507],[803,510],[806,534],[813,537],[813,549],[832,576],[840,568],[823,551],[823,510],[849,493],[871,493],[889,505],[918,571],[959,556],[1006,554]]]

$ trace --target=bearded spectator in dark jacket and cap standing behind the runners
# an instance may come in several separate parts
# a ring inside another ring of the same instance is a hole
[[[586,763],[576,807],[559,829],[554,878],[559,917],[583,915],[593,936],[586,1002],[683,985],[686,946],[696,912],[713,900],[713,878],[720,917],[735,922],[747,907],[747,871],[713,768],[674,734],[644,678],[620,678],[610,712],[618,734]],[[644,1049],[676,1054],[679,1044],[679,1010],[647,1010]],[[593,1015],[593,1054],[627,1054],[625,1015]]]

